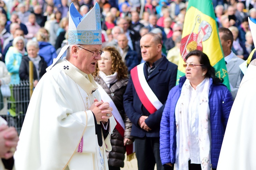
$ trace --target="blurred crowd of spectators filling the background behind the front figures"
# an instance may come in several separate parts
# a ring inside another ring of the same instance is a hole
[[[128,72],[143,62],[140,37],[147,32],[162,38],[162,54],[178,64],[188,0],[96,1],[101,8],[103,47],[115,47]],[[41,63],[46,62],[47,66],[52,64],[61,47],[68,44],[71,2],[82,16],[95,3],[93,0],[0,0],[0,56],[12,75],[11,84],[26,79],[21,78],[19,72],[26,69],[20,64],[23,56],[30,56],[29,40],[38,42],[33,45],[39,54],[35,57],[42,58]],[[232,51],[246,60],[254,49],[247,18],[256,23],[256,0],[213,0],[213,6],[218,27],[228,28],[233,34]],[[37,62],[35,72],[41,72],[40,66]]]

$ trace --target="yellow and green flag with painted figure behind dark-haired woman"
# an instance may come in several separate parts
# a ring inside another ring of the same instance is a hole
[[[218,27],[212,0],[189,0],[184,21],[181,57],[178,65],[177,83],[185,75],[184,59],[193,50],[201,50],[208,57],[216,70],[216,76],[224,79],[230,89],[226,63],[218,35]]]

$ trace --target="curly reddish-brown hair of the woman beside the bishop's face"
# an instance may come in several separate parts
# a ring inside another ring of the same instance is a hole
[[[112,58],[112,71],[117,72],[117,80],[128,78],[128,68],[123,62],[122,56],[115,47],[104,47],[102,51],[108,51]],[[99,75],[98,62],[96,64],[95,72],[92,73],[94,77]]]

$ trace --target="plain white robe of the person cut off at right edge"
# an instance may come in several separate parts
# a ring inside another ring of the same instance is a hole
[[[256,59],[248,66],[232,105],[217,170],[256,169]]]

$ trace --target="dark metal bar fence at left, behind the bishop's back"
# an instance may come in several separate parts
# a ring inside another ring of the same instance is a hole
[[[29,81],[20,81],[20,84],[10,85],[11,97],[7,98],[8,115],[1,115],[9,126],[14,126],[18,132],[27,112],[30,95]]]

